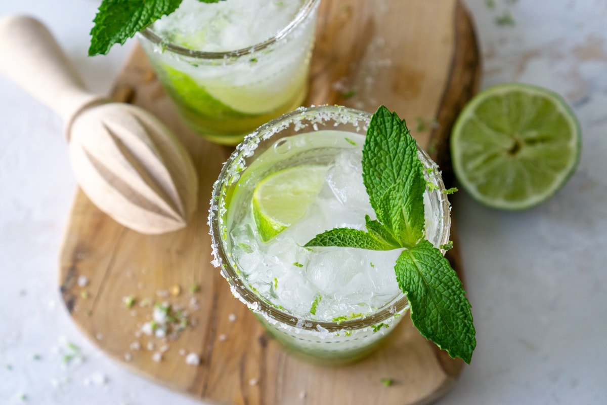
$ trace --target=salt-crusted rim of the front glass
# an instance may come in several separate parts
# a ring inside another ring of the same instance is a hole
[[[280,322],[283,325],[287,325],[288,327],[292,327],[296,330],[307,330],[310,332],[320,333],[320,330],[327,330],[329,333],[339,333],[344,330],[361,330],[364,328],[371,327],[372,325],[387,321],[387,319],[392,318],[397,313],[401,313],[409,308],[409,301],[407,301],[407,297],[404,293],[398,294],[396,298],[392,301],[385,304],[378,311],[371,313],[368,316],[364,316],[363,318],[355,318],[348,319],[346,321],[313,321],[311,319],[301,318],[304,322],[302,324],[299,321],[299,318],[296,315],[289,313],[288,311],[280,310],[279,308],[274,307],[269,304],[261,297],[257,296],[253,291],[246,288],[245,283],[240,279],[239,275],[232,268],[231,262],[228,259],[229,254],[225,251],[224,245],[222,243],[222,228],[220,226],[220,220],[222,218],[222,207],[219,205],[220,197],[224,189],[228,188],[229,185],[226,185],[225,182],[222,182],[222,179],[226,179],[226,176],[230,175],[229,171],[232,165],[238,164],[240,162],[240,158],[249,157],[253,155],[253,151],[255,148],[250,148],[251,145],[257,145],[261,141],[266,141],[268,138],[271,138],[275,134],[279,134],[285,128],[289,128],[290,125],[284,126],[283,124],[288,123],[292,124],[294,119],[297,117],[306,117],[306,115],[314,114],[315,112],[328,112],[328,119],[323,119],[323,121],[328,121],[336,115],[344,115],[351,114],[351,121],[348,121],[351,124],[354,124],[354,121],[364,121],[367,126],[371,119],[371,114],[365,111],[359,111],[356,109],[352,109],[350,107],[344,106],[332,106],[332,105],[324,105],[324,106],[311,106],[311,107],[299,107],[293,112],[289,112],[284,114],[274,120],[269,121],[268,123],[260,126],[256,131],[245,137],[245,140],[242,141],[234,152],[229,156],[228,160],[223,165],[222,171],[219,174],[218,180],[214,183],[211,197],[211,207],[209,208],[209,226],[211,230],[211,243],[212,243],[212,254],[214,256],[214,265],[215,267],[220,267],[220,273],[222,276],[228,281],[230,285],[230,289],[234,297],[243,302],[249,309],[253,310],[254,313],[260,313],[266,321],[273,324],[273,321]],[[311,125],[311,124],[310,124]],[[279,128],[279,131],[272,132],[271,130],[274,128]],[[268,136],[268,133],[270,134]],[[435,166],[436,163],[430,158],[430,155],[427,154],[424,149],[422,149],[419,144],[418,153],[422,154],[425,160],[432,163]],[[246,170],[246,169],[245,169]],[[242,171],[244,172],[244,170]],[[241,172],[241,173],[242,173]],[[237,180],[235,180],[237,181]],[[451,225],[450,220],[450,205],[449,200],[447,198],[447,194],[441,192],[445,189],[444,182],[441,176],[436,178],[438,183],[438,189],[435,190],[439,196],[440,200],[440,210],[443,213],[443,226],[441,233],[441,245],[444,245],[449,242],[449,229]],[[223,206],[225,209],[225,206]],[[444,231],[444,230],[447,231]],[[444,250],[441,248],[441,251],[444,254]],[[320,329],[320,328],[322,329]]]

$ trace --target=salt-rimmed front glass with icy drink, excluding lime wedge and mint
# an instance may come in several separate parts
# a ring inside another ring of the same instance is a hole
[[[215,184],[210,223],[215,265],[232,293],[268,331],[299,355],[343,363],[372,352],[407,310],[394,273],[400,250],[303,247],[332,228],[365,228],[374,219],[362,183],[362,146],[370,115],[337,106],[299,109],[247,137]],[[419,150],[427,168],[436,169]],[[320,178],[305,214],[264,242],[254,220],[256,186],[273,175]],[[281,175],[287,174],[287,175]],[[427,237],[449,240],[449,203],[438,170],[424,196]]]

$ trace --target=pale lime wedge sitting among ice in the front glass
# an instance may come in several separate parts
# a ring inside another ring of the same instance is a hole
[[[253,217],[263,242],[293,225],[320,192],[327,168],[295,166],[273,173],[253,192]]]

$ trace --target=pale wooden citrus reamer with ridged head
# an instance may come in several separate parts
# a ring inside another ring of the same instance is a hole
[[[63,118],[76,180],[101,211],[140,233],[186,226],[197,205],[197,175],[164,124],[141,107],[87,92],[36,19],[0,20],[0,54],[0,71]]]

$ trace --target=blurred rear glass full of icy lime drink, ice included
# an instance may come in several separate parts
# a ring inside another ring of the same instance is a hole
[[[138,36],[186,123],[236,145],[300,106],[320,0],[184,0]]]

